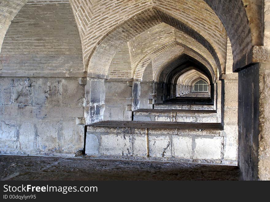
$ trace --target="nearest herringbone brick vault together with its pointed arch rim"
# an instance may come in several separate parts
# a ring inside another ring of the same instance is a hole
[[[130,41],[129,44],[132,44],[136,36],[151,31],[152,27],[161,23],[184,33],[184,38],[193,38],[195,47],[199,48],[197,44],[204,46],[214,58],[214,66],[219,68],[220,73],[225,68],[226,30],[214,11],[202,0],[70,2],[81,36],[85,70],[89,73],[106,74],[110,65],[106,63],[110,63],[123,43]],[[154,30],[155,35],[159,34],[161,43],[165,43],[164,37],[161,37],[163,31],[163,26]],[[151,35],[149,32],[148,36]],[[140,40],[152,46],[152,38],[145,36]],[[186,41],[184,38],[183,43]],[[156,41],[156,44],[160,42]],[[140,56],[143,58],[145,54],[137,54],[136,59]],[[103,67],[104,70],[101,69]],[[139,76],[135,74],[135,77]]]

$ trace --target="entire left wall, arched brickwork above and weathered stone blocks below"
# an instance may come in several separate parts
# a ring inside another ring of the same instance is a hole
[[[83,149],[84,127],[77,125],[85,122],[82,50],[68,1],[27,2],[6,33],[0,67],[1,153]]]

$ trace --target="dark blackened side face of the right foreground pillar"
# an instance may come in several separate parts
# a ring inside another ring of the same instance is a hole
[[[244,180],[258,179],[259,68],[238,73],[238,166]]]

